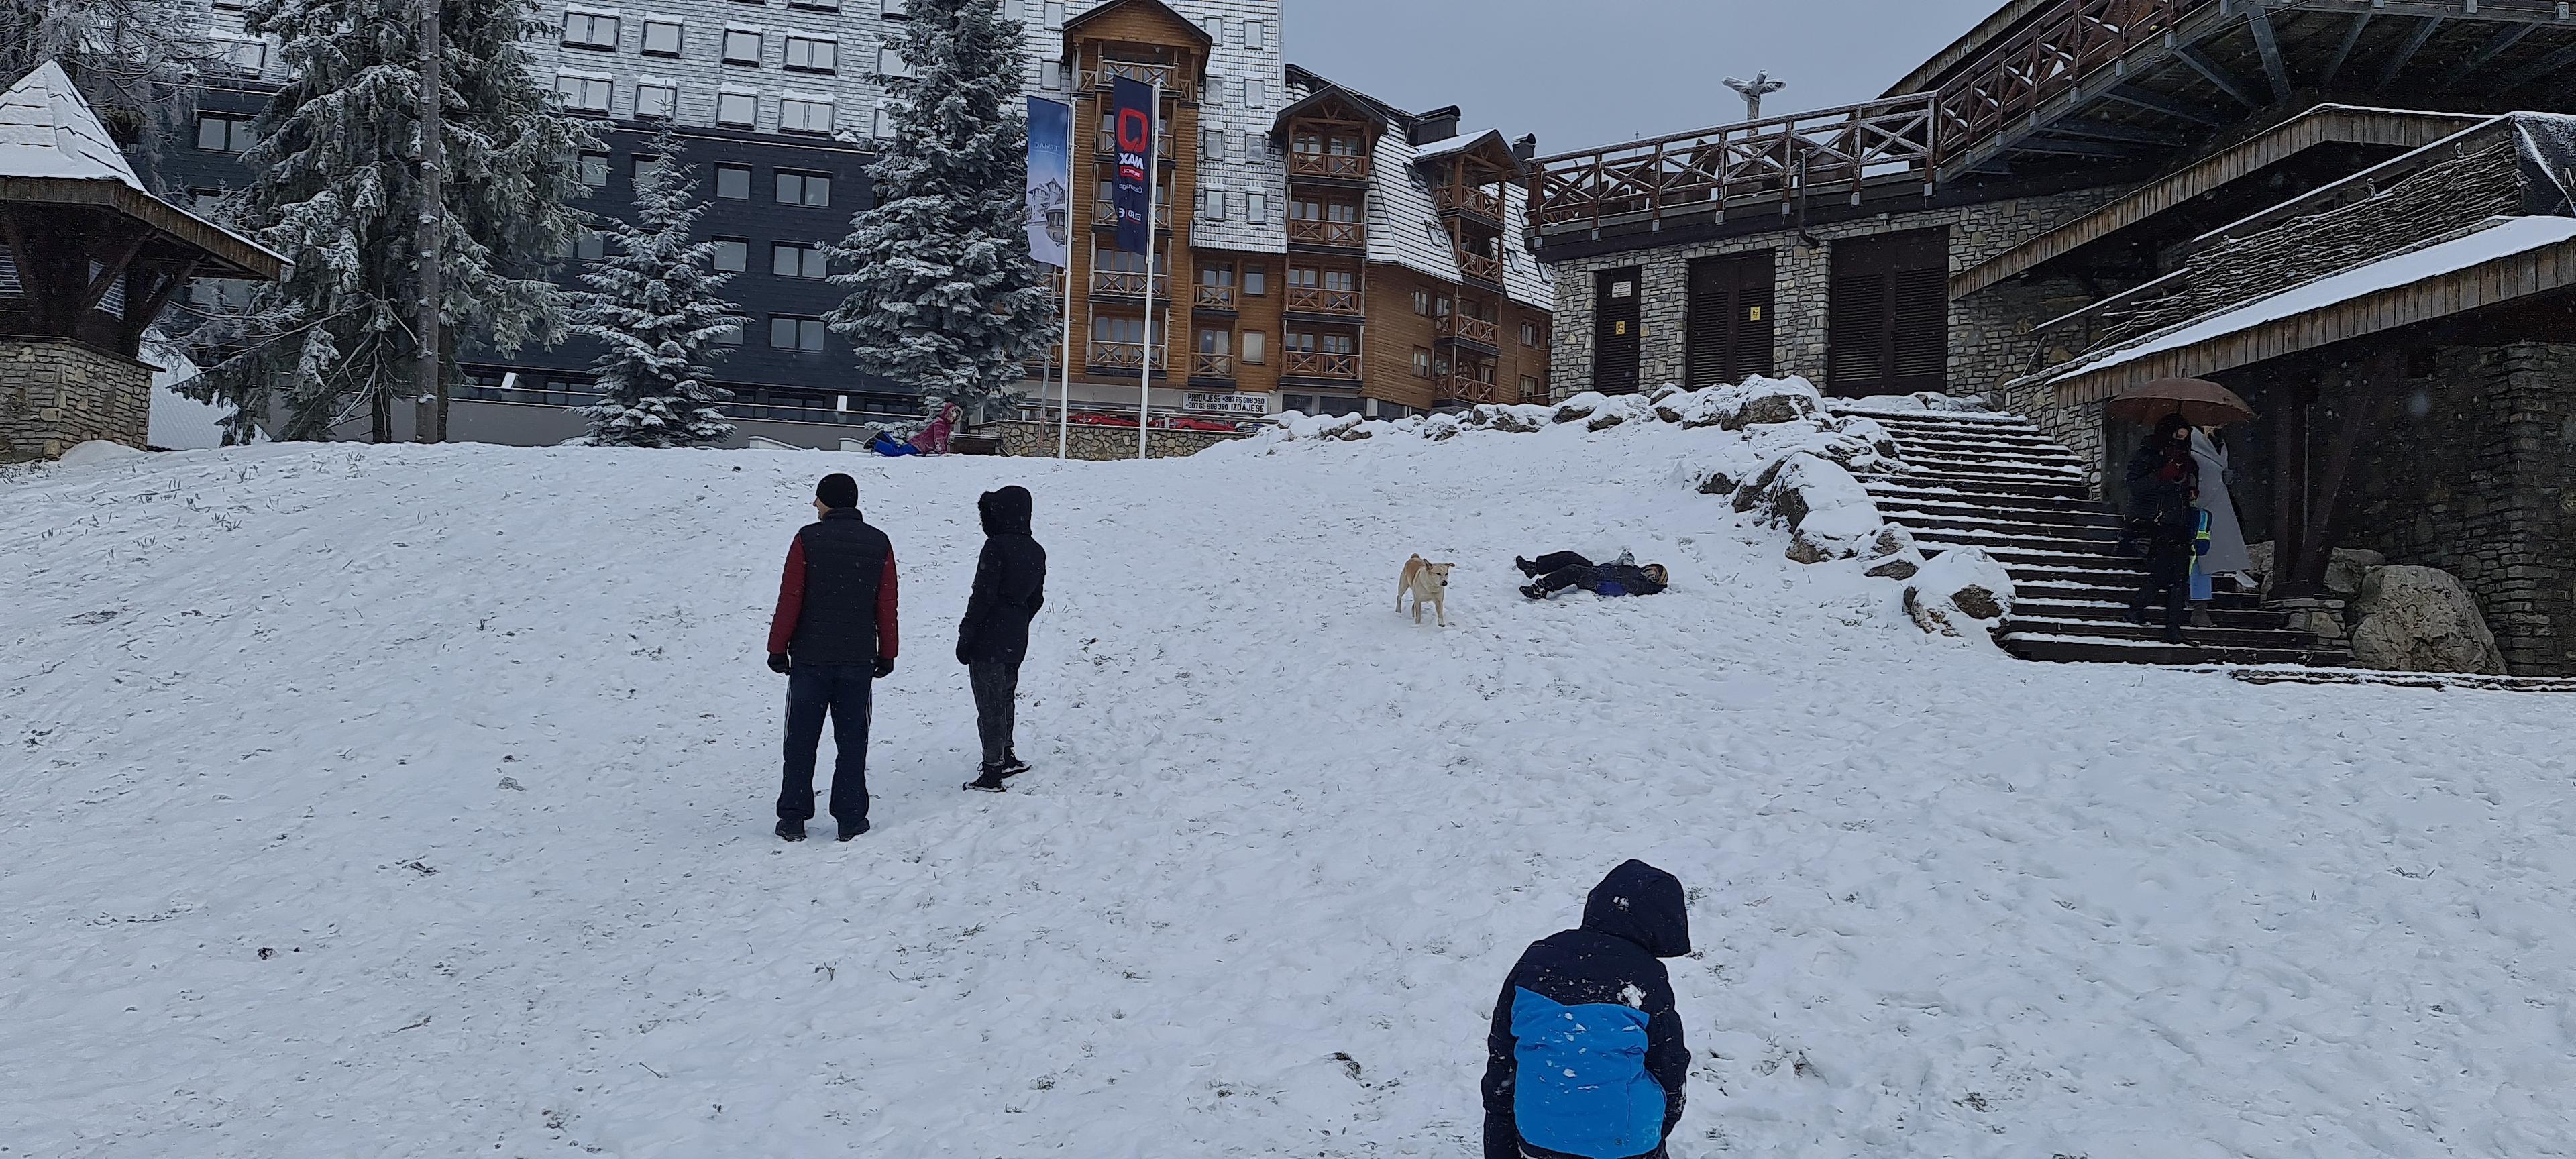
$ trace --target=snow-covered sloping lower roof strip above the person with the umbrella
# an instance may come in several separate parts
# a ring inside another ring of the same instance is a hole
[[[2071,379],[2094,376],[2110,371],[2112,366],[2133,363],[2138,358],[2169,350],[2184,350],[2226,335],[2254,330],[2264,322],[2280,322],[2287,317],[2311,314],[2367,294],[2411,286],[2427,278],[2439,278],[2445,273],[2460,273],[2476,265],[2486,265],[2501,258],[2514,258],[2561,242],[2576,242],[2576,216],[2499,216],[2465,237],[2452,237],[2447,242],[2434,242],[2419,250],[2396,252],[2375,263],[2349,268],[2344,273],[2329,273],[2324,278],[2290,286],[2272,296],[2262,296],[2239,306],[2228,306],[2223,312],[2202,314],[2197,319],[2177,322],[2164,330],[2138,335],[2130,343],[2043,371],[2038,381],[2063,384]]]

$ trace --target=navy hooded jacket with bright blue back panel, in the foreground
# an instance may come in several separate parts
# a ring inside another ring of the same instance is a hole
[[[1643,860],[1610,871],[1584,925],[1540,938],[1494,999],[1486,1159],[1628,1159],[1682,1123],[1690,1048],[1659,958],[1690,953],[1682,883]]]

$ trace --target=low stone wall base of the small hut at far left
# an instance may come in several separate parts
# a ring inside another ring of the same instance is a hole
[[[149,366],[85,343],[0,337],[0,458],[59,458],[93,438],[142,451],[149,430]]]

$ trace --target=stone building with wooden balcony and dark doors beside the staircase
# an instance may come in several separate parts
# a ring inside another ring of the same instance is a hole
[[[2367,546],[2571,672],[2571,70],[2553,0],[2012,0],[1880,100],[1543,157],[1553,384],[1986,397],[2117,500],[2105,402],[2218,379],[2275,598]]]

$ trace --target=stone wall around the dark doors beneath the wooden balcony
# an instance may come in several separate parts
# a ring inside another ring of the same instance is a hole
[[[1698,258],[1772,250],[1772,361],[1780,373],[1803,373],[1824,384],[1826,281],[1832,242],[1878,237],[1906,229],[1950,227],[1950,273],[1965,270],[2014,245],[2022,245],[2069,219],[2089,214],[2120,196],[2117,188],[2002,198],[1973,206],[1942,206],[1914,214],[1878,214],[1857,221],[1780,227],[1695,245],[1625,250],[1553,263],[1556,270],[1556,348],[1548,384],[1556,397],[1592,389],[1592,286],[1595,273],[1638,265],[1643,278],[1643,332],[1638,335],[1638,384],[1654,389],[1682,381],[1685,335],[1690,325],[1690,263]],[[1824,245],[1808,245],[1824,242]],[[2043,283],[1996,286],[1950,304],[1950,389],[1984,394],[2004,379],[2027,373],[2027,330],[2063,309],[2089,301],[2081,288]]]

